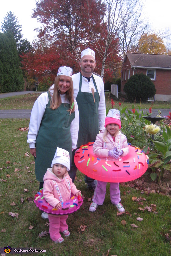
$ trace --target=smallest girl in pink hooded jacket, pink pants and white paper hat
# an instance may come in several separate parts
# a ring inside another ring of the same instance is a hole
[[[70,199],[71,193],[76,196],[81,196],[81,192],[76,188],[68,175],[70,169],[70,157],[68,151],[57,148],[51,167],[52,168],[47,169],[43,178],[43,195],[50,205],[56,209],[60,209],[62,207],[62,202]],[[70,235],[66,223],[68,215],[48,214],[48,217],[50,238],[55,243],[62,243],[64,239],[60,232],[65,237]]]

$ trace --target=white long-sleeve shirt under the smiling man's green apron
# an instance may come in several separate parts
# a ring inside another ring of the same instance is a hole
[[[104,83],[101,77],[93,74],[93,77],[95,79],[96,85],[97,85],[97,90],[100,96],[100,102],[99,102],[99,127],[100,130],[104,129],[104,123],[105,123],[105,118],[106,118],[106,105],[105,105],[105,96],[104,96]],[[73,80],[73,85],[74,85],[74,98],[76,99],[78,92],[79,92],[79,79],[80,79],[80,73],[77,73],[72,76]],[[96,92],[96,88],[93,84],[93,79],[92,77],[90,78],[90,82],[88,82],[87,78],[82,76],[82,87],[81,87],[81,92],[91,92],[91,88],[94,89]],[[81,113],[80,113],[81,115]]]

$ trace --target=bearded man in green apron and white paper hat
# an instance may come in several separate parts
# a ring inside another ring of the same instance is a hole
[[[72,76],[74,97],[79,110],[79,132],[77,147],[95,141],[96,135],[104,129],[106,106],[104,84],[101,77],[92,74],[96,67],[95,52],[90,48],[81,52],[81,72]],[[94,89],[94,98],[91,89]],[[73,152],[74,159],[74,152]],[[72,160],[69,175],[75,180],[77,167]],[[97,181],[85,176],[87,188],[95,190]]]

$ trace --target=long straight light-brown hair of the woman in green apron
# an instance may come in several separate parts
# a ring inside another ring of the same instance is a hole
[[[55,78],[55,82],[54,82],[54,93],[53,93],[53,95],[51,97],[51,101],[50,101],[50,108],[53,109],[53,110],[57,109],[61,105],[60,87],[59,87],[60,77],[61,76],[58,75]],[[50,91],[50,89],[49,89],[49,91]],[[68,91],[66,91],[65,99],[69,100],[70,108],[67,111],[70,111],[72,103],[74,102],[74,88],[73,88],[73,81],[72,81],[71,77],[70,77],[70,86],[69,86]],[[74,110],[75,110],[75,105],[74,105],[71,112],[74,112]]]

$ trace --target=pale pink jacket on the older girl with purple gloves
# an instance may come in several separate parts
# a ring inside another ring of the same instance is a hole
[[[118,148],[118,138],[120,139],[120,146],[119,149],[122,149],[123,154],[121,156],[126,156],[129,153],[129,147],[127,143],[127,138],[124,134],[120,131],[115,137],[115,142],[113,141],[112,136],[107,133],[106,135],[106,149],[105,149],[105,142],[103,141],[103,133],[105,129],[101,131],[101,133],[97,134],[96,140],[93,145],[93,152],[96,156],[106,159],[108,158],[108,152],[115,147]],[[109,161],[113,160],[112,158],[108,158]]]

